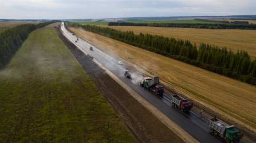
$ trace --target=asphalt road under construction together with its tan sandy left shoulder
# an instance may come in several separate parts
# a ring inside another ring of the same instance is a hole
[[[222,141],[209,133],[211,131],[209,119],[191,110],[184,112],[184,110],[179,110],[181,108],[173,108],[173,94],[164,93],[163,96],[159,96],[141,87],[140,82],[144,77],[147,77],[147,74],[143,73],[140,67],[122,61],[116,55],[106,54],[100,50],[100,47],[96,47],[68,31],[63,23],[61,24],[61,31],[69,41],[111,75],[118,84],[122,84],[127,91],[136,94],[134,95],[134,98],[137,98],[136,100],[143,102],[144,107],[158,116],[162,123],[177,132],[186,142]],[[131,78],[125,77],[124,73],[127,70],[131,73]],[[241,140],[241,142],[244,142],[244,140]]]

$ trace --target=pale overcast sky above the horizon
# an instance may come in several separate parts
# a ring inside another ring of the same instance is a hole
[[[0,0],[0,19],[256,15],[256,0]]]

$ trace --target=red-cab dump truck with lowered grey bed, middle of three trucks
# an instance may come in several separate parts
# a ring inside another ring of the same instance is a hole
[[[182,112],[189,112],[193,107],[193,102],[180,97],[179,95],[171,96],[172,107],[179,108]]]

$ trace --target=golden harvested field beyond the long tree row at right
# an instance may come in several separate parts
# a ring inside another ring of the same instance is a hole
[[[233,51],[246,50],[250,56],[256,57],[256,31],[237,29],[193,29],[173,27],[138,27],[138,26],[109,26],[122,31],[134,33],[149,33],[190,40],[196,45],[209,43],[227,47]]]

